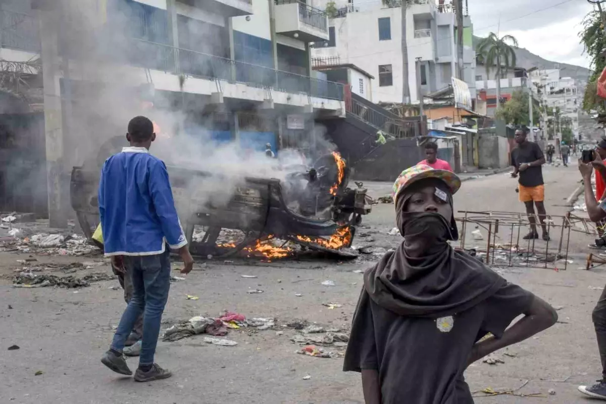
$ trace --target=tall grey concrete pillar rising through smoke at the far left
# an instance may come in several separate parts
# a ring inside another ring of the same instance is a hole
[[[42,77],[44,79],[44,135],[46,143],[46,170],[48,191],[48,219],[50,227],[67,227],[69,181],[64,164],[64,127],[59,84],[59,47],[56,27],[59,13],[38,11],[40,21]]]

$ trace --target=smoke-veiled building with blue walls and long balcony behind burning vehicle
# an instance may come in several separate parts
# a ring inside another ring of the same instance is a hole
[[[303,2],[11,0],[3,25],[15,18],[7,4],[22,14],[18,35],[2,27],[0,57],[44,61],[52,226],[67,223],[72,166],[124,133],[133,113],[165,132],[275,150],[311,147],[316,118],[345,116],[343,85],[311,69],[308,44],[330,38],[328,18]]]

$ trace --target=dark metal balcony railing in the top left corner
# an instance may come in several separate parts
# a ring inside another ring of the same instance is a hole
[[[36,18],[23,13],[0,10],[0,46],[40,52]]]

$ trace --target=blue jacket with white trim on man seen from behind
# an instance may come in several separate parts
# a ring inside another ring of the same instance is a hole
[[[168,172],[145,147],[124,147],[108,158],[99,181],[105,255],[162,254],[187,245]]]

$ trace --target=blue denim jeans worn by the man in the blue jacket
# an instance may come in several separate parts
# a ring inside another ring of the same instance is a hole
[[[133,280],[133,297],[122,314],[111,348],[118,352],[143,314],[143,337],[139,365],[151,365],[158,344],[162,312],[170,289],[170,249],[164,254],[124,257],[124,266]]]

